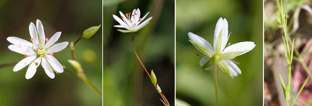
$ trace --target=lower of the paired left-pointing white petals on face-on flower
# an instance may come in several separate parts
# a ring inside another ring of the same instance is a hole
[[[17,53],[20,53],[20,54],[27,54],[27,55],[33,55],[35,54],[36,52],[34,50],[32,50],[31,47],[29,46],[21,46],[21,45],[9,45],[8,48],[11,50],[11,51],[15,51]]]

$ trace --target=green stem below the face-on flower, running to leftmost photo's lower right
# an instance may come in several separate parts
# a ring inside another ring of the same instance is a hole
[[[87,85],[89,85],[97,94],[100,95],[100,97],[102,97],[102,93],[100,92],[99,89],[97,89],[90,81],[89,79],[84,75],[84,74],[78,74],[78,73],[75,73],[73,71],[70,71],[66,68],[64,68],[64,70],[66,70],[67,72],[75,75],[76,77],[78,77],[79,79],[81,79],[82,81],[84,81]]]

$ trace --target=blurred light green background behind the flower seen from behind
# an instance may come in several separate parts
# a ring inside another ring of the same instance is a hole
[[[262,0],[176,1],[176,98],[193,106],[215,105],[213,71],[200,71],[201,54],[188,40],[193,32],[213,44],[220,17],[226,18],[232,34],[228,43],[255,42],[256,47],[233,60],[242,73],[232,79],[218,69],[219,105],[263,105],[263,12]]]

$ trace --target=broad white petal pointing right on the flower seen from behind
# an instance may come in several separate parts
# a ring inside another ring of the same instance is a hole
[[[248,51],[251,51],[255,46],[256,46],[255,43],[251,41],[239,42],[231,46],[228,46],[227,48],[224,49],[224,51],[222,51],[221,54],[223,55],[223,54],[230,54],[230,53],[235,53],[235,52],[242,52],[230,58],[225,58],[225,59],[233,59],[236,56],[239,56],[239,55],[247,53]]]

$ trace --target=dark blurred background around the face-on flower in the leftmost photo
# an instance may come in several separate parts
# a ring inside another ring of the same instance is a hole
[[[75,41],[90,26],[102,24],[102,0],[0,0],[0,64],[18,62],[24,55],[10,51],[8,36],[30,41],[29,23],[41,20],[45,35],[51,38],[57,31],[61,37],[56,43]],[[102,28],[100,28],[102,29]],[[102,89],[102,30],[90,39],[76,45],[75,56],[86,76]],[[69,70],[70,47],[54,54]],[[42,66],[31,79],[26,79],[27,68],[13,72],[12,66],[0,68],[1,106],[100,106],[102,99],[82,80],[64,71],[49,78]]]

